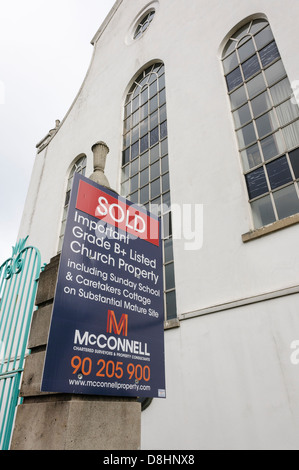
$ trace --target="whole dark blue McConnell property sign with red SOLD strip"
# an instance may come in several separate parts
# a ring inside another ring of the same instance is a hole
[[[165,398],[160,220],[75,174],[42,391]]]

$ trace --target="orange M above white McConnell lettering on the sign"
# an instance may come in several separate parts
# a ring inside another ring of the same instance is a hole
[[[110,336],[112,333],[117,335]],[[110,351],[139,354],[141,356],[150,356],[147,343],[137,340],[129,340],[120,336],[128,335],[128,315],[123,313],[117,322],[113,310],[108,310],[107,314],[107,334],[95,334],[90,331],[75,330],[74,344],[80,346],[97,346],[100,349]]]

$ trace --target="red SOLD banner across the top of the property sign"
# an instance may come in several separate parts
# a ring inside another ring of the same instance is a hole
[[[80,181],[76,209],[104,220],[135,237],[159,246],[159,221],[127,205],[122,198],[112,197],[100,189]]]

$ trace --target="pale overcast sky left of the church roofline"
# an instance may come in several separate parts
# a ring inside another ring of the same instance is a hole
[[[36,144],[62,120],[115,0],[0,0],[0,265],[11,256]]]

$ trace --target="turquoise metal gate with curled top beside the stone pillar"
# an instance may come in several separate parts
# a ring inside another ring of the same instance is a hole
[[[25,246],[27,238],[0,266],[0,450],[10,445],[41,268],[40,253]]]

